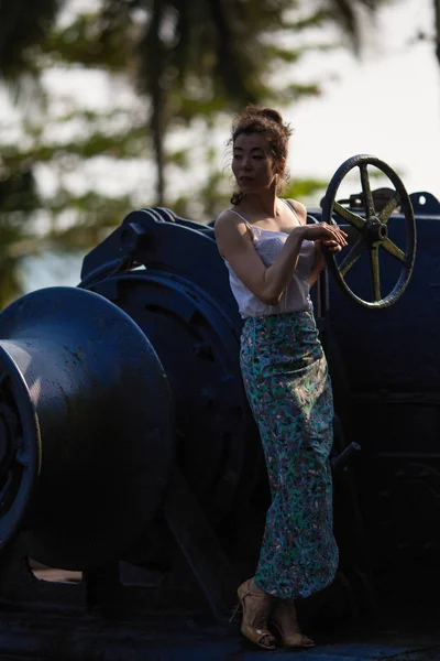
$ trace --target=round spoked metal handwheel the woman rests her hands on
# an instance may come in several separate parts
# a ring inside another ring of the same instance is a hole
[[[386,204],[381,205],[381,209],[377,210],[370,185],[369,165],[381,170],[394,186],[389,199]],[[359,167],[360,171],[364,215],[359,215],[353,209],[346,208],[337,202],[342,180],[355,167]],[[398,246],[388,236],[388,220],[398,207],[403,215],[402,223],[405,226],[405,238],[399,239],[400,243],[405,243],[404,246]],[[364,307],[377,310],[393,305],[409,282],[416,256],[416,223],[413,206],[409,195],[396,172],[375,156],[367,154],[352,156],[342,163],[327,188],[322,202],[322,220],[333,225],[349,225],[349,247],[338,257],[330,252],[327,253],[329,269],[344,293]],[[396,282],[386,294],[383,292],[384,286],[381,278],[381,251],[391,254],[399,267]],[[365,300],[358,295],[352,290],[352,285],[349,285],[345,280],[349,271],[365,253],[370,267],[372,300]]]

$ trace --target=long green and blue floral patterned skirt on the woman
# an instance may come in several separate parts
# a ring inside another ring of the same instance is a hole
[[[328,586],[338,566],[333,401],[312,312],[246,318],[240,364],[272,495],[255,583],[279,598],[307,597]]]

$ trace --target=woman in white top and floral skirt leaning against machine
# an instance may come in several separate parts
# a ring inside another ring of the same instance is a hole
[[[271,108],[249,107],[232,127],[232,207],[216,237],[244,318],[240,365],[260,429],[272,494],[255,576],[238,589],[242,633],[274,649],[315,643],[298,628],[294,599],[329,585],[332,532],[332,393],[309,288],[324,267],[321,243],[345,232],[306,225],[306,208],[277,196],[286,177],[289,128]],[[272,629],[272,630],[271,630]]]

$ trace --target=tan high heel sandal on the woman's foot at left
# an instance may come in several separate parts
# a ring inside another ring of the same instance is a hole
[[[241,632],[243,633],[243,636],[245,638],[248,638],[248,640],[250,640],[254,644],[257,644],[258,647],[261,647],[265,650],[275,650],[276,649],[275,643],[264,644],[264,642],[263,642],[264,639],[267,637],[274,638],[274,635],[272,633],[272,631],[270,631],[267,629],[267,619],[271,615],[273,597],[272,597],[272,595],[268,595],[267,593],[265,593],[258,588],[253,589],[251,587],[251,582],[252,582],[252,578],[250,578],[249,581],[245,581],[244,583],[242,583],[240,585],[239,589],[237,590],[237,594],[239,597],[239,603],[238,603],[237,608],[233,611],[231,619],[229,621],[232,621],[235,618],[235,616],[241,607],[242,613],[243,613],[243,619],[241,622]],[[246,615],[246,605],[245,605],[246,597],[258,597],[260,599],[262,599],[261,608],[258,608],[258,610],[254,614],[252,624],[248,624],[244,621],[245,615]]]

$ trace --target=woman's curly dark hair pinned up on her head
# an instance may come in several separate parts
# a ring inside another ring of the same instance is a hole
[[[279,163],[287,159],[288,140],[292,134],[289,124],[284,123],[283,117],[273,108],[256,108],[255,106],[246,106],[232,122],[231,139],[229,141],[232,147],[239,136],[243,133],[264,133],[267,138],[272,155],[275,163]],[[286,172],[283,173],[283,178],[287,178]],[[231,204],[239,204],[243,199],[241,191],[234,191],[231,197]]]

